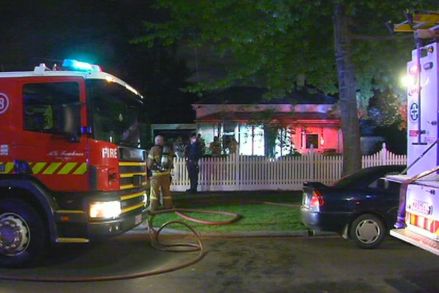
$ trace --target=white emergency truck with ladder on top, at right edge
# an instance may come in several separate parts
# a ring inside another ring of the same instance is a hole
[[[413,33],[416,48],[407,63],[407,168],[389,177],[401,182],[404,220],[390,234],[439,255],[439,12],[407,12],[393,30]]]

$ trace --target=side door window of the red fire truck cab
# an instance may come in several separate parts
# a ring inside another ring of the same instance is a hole
[[[23,130],[57,132],[63,105],[79,102],[77,83],[35,83],[23,86]]]

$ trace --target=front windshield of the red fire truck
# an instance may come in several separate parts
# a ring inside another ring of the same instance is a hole
[[[93,137],[97,140],[140,146],[137,116],[142,107],[138,95],[117,83],[88,79]]]

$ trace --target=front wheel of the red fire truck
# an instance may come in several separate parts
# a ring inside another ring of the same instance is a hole
[[[32,265],[47,249],[40,216],[29,204],[16,199],[1,200],[0,207],[0,265]]]

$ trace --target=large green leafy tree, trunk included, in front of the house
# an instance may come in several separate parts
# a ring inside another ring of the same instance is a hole
[[[397,87],[413,40],[392,35],[386,21],[434,1],[157,0],[169,21],[148,22],[136,42],[208,47],[227,59],[228,74],[191,90],[256,83],[273,96],[304,84],[340,95],[344,173],[360,165],[358,106],[375,91]]]

